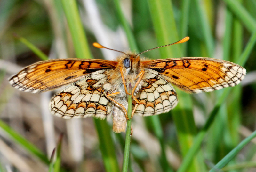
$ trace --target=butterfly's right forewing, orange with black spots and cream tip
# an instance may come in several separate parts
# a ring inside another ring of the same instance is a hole
[[[233,87],[246,74],[246,70],[235,63],[200,57],[144,61],[142,66],[159,72],[167,81],[194,93]]]

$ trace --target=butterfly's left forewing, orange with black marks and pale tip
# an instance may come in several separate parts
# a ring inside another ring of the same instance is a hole
[[[99,59],[54,59],[39,61],[13,75],[10,84],[21,91],[40,92],[76,82],[86,74],[114,69],[116,62]]]

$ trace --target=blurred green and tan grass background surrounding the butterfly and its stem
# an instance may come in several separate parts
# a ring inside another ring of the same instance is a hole
[[[0,171],[121,171],[124,133],[93,118],[53,117],[48,104],[60,89],[24,93],[8,78],[47,58],[118,55],[92,42],[141,52],[185,36],[187,43],[143,56],[225,59],[243,65],[247,75],[212,93],[176,89],[174,110],[134,117],[129,171],[255,171],[256,140],[249,142],[256,128],[255,9],[255,0],[0,1]]]

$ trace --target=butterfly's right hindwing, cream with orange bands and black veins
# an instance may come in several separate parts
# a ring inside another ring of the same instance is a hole
[[[145,70],[142,87],[136,94],[139,105],[135,114],[141,116],[157,115],[173,109],[177,103],[177,95],[172,85],[163,75],[154,70]]]

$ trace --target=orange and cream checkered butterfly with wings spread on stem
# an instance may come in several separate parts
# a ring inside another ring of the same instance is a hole
[[[169,45],[188,39],[185,37]],[[93,45],[107,48],[98,43]],[[246,74],[243,67],[220,59],[184,57],[147,60],[140,59],[142,53],[121,53],[115,61],[39,61],[23,68],[9,82],[18,90],[32,93],[70,84],[52,97],[49,104],[51,113],[65,119],[112,117],[113,131],[119,133],[126,129],[128,94],[133,98],[132,115],[157,115],[172,110],[178,103],[172,84],[188,93],[210,92],[233,87]],[[127,87],[132,88],[132,93],[127,91]]]

